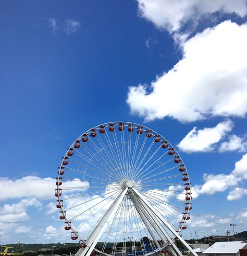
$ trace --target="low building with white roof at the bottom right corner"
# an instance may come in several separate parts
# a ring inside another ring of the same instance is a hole
[[[206,249],[202,256],[240,256],[240,249],[247,249],[247,243],[236,242],[216,242]]]

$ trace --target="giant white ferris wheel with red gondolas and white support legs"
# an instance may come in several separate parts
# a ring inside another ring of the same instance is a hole
[[[55,196],[59,218],[77,255],[182,255],[192,209],[184,162],[165,137],[150,128],[112,122],[80,135],[58,167]]]

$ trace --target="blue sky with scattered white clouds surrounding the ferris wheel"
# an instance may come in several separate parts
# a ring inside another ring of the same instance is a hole
[[[202,2],[1,2],[0,243],[66,241],[61,156],[120,120],[177,145],[197,197],[184,237],[247,230],[247,6]]]

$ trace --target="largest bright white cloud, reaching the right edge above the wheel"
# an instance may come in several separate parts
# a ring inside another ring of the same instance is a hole
[[[216,1],[217,2],[217,1]],[[132,113],[146,121],[192,122],[247,112],[247,24],[225,21],[183,43],[183,57],[151,86],[129,88]],[[150,92],[151,90],[151,92]]]

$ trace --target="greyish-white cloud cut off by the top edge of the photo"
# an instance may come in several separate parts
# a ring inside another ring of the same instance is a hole
[[[169,32],[179,30],[188,21],[196,27],[200,19],[216,11],[235,13],[241,17],[247,11],[244,0],[138,0],[138,7],[140,16]]]

